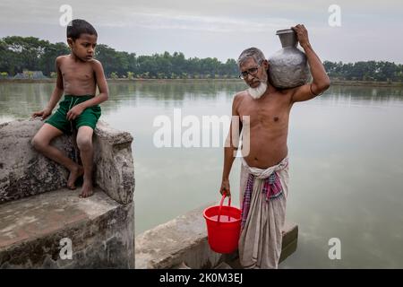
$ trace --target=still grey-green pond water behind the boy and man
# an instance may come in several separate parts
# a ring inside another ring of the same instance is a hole
[[[51,83],[1,83],[0,122],[47,104]],[[102,119],[133,137],[136,232],[219,201],[223,151],[157,148],[159,115],[230,115],[243,83],[110,83]],[[222,131],[223,132],[223,131]],[[333,86],[297,103],[289,125],[287,221],[296,253],[281,268],[403,268],[403,90]],[[239,165],[231,172],[238,204]],[[202,215],[201,215],[202,216]],[[330,239],[341,259],[330,260]]]

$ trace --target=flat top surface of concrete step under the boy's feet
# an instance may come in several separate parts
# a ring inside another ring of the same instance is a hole
[[[89,222],[119,204],[99,189],[81,199],[79,190],[62,188],[39,196],[30,196],[0,205],[0,251],[24,240],[32,240]],[[63,208],[61,208],[63,206]]]

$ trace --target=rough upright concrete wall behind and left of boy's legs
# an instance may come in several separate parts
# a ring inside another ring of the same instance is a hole
[[[40,120],[16,120],[0,125],[0,204],[65,187],[68,170],[36,152],[30,141]],[[71,137],[53,144],[77,161]]]

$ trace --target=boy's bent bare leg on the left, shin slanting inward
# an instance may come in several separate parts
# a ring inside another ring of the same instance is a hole
[[[50,145],[50,142],[59,135],[63,135],[63,132],[55,126],[44,124],[39,129],[38,133],[32,138],[31,143],[38,152],[41,152],[47,158],[60,163],[66,169],[70,170],[67,187],[75,189],[74,182],[77,178],[82,176],[84,170],[80,165],[65,156],[63,152]]]

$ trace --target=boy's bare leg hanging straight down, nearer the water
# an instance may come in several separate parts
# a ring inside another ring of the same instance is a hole
[[[82,166],[84,167],[84,183],[80,197],[92,196],[93,132],[90,126],[80,126],[77,133],[77,146],[80,150]]]

